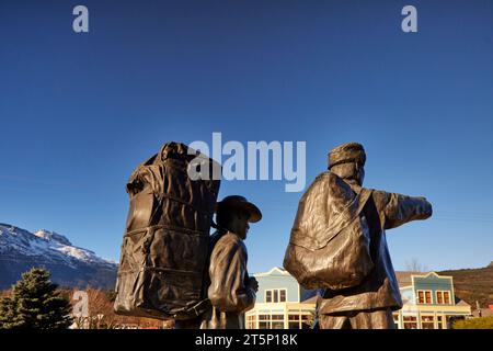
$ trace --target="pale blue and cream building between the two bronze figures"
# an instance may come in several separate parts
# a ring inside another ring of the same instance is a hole
[[[254,274],[259,281],[255,307],[245,314],[246,329],[309,329],[316,303],[287,271],[273,268]]]

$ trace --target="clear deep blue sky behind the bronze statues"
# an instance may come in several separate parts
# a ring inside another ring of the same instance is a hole
[[[72,32],[85,4],[90,33]],[[401,9],[419,33],[401,31]],[[305,140],[307,178],[345,141],[368,188],[424,195],[434,217],[389,230],[394,267],[493,260],[493,2],[0,2],[0,222],[117,260],[125,183],[167,140]],[[307,184],[308,185],[308,184]],[[250,271],[280,265],[301,193],[222,182],[264,219]]]

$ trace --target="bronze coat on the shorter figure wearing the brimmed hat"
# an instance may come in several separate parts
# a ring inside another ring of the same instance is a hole
[[[255,305],[255,291],[249,286],[248,252],[233,233],[217,231],[213,237],[207,291],[210,308],[202,329],[243,329],[244,313]]]

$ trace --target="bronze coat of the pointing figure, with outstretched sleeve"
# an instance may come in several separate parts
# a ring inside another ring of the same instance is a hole
[[[357,185],[352,188],[356,193],[363,190]],[[319,314],[402,308],[401,294],[387,247],[386,229],[429,217],[432,205],[424,197],[372,190],[362,215],[366,217],[370,229],[370,254],[375,268],[355,287],[325,290],[318,304]]]

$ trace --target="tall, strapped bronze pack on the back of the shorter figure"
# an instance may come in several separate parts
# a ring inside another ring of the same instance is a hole
[[[206,308],[209,229],[219,180],[192,180],[198,152],[167,143],[130,176],[126,231],[116,282],[117,314],[194,318]],[[200,167],[220,166],[200,155]]]

